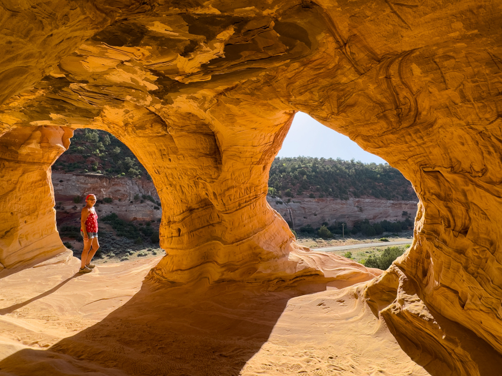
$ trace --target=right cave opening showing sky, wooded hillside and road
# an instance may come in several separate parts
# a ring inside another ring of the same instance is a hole
[[[412,243],[418,204],[412,184],[399,170],[301,112],[272,162],[267,201],[297,242],[313,250],[390,242],[387,247],[399,248],[392,249],[396,254]],[[335,252],[364,264],[387,247]]]

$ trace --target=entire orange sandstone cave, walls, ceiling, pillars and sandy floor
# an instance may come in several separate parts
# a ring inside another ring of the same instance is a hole
[[[500,373],[500,2],[0,10],[0,374]],[[382,274],[267,204],[297,111],[412,182],[413,244]],[[152,176],[155,265],[73,276],[50,166],[77,128]]]

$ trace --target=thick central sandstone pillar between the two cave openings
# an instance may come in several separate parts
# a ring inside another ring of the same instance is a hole
[[[266,201],[268,171],[293,112],[214,112],[110,110],[96,123],[131,148],[158,189],[168,256],[154,274],[170,282],[294,274],[294,237]]]

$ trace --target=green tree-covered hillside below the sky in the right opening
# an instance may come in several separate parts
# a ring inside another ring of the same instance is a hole
[[[360,161],[277,157],[272,162],[269,194],[286,198],[310,197],[348,200],[371,196],[387,200],[415,200],[411,183],[386,164]]]

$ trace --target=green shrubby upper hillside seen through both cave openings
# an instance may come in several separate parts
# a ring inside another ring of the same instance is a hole
[[[93,129],[76,129],[70,148],[53,168],[61,172],[94,172],[151,180],[126,145],[105,131]],[[331,197],[348,200],[361,196],[387,200],[416,199],[411,183],[387,163],[303,156],[274,159],[270,168],[269,194],[291,199]]]

